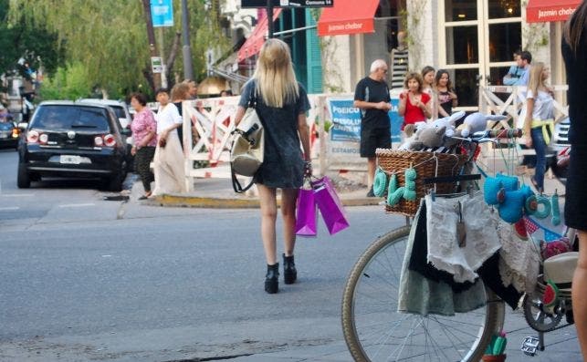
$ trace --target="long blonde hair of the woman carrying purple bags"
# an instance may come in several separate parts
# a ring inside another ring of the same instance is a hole
[[[257,80],[257,95],[269,107],[283,108],[299,98],[289,47],[282,40],[268,39],[261,47],[253,78]]]

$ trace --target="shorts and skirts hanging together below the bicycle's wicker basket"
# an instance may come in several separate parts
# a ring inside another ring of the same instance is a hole
[[[516,309],[521,296],[534,290],[538,249],[499,220],[481,192],[451,198],[426,195],[413,225],[400,277],[399,312],[470,312],[486,305],[485,287]]]

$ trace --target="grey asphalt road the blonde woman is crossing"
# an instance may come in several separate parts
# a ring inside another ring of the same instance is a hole
[[[0,150],[2,361],[349,361],[346,276],[404,222],[377,206],[349,208],[350,229],[299,239],[299,284],[267,295],[257,210],[146,206],[136,190],[130,202],[104,201],[93,181],[18,190],[16,162]],[[524,360],[521,338],[535,333],[519,314],[507,326],[508,360]],[[580,360],[573,328],[547,345],[533,360]]]

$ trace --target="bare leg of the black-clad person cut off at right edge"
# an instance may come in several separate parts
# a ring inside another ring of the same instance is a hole
[[[579,234],[579,263],[572,278],[572,315],[577,326],[577,337],[583,355],[587,361],[587,231]]]

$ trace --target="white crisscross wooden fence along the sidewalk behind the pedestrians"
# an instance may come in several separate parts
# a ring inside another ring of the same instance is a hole
[[[555,99],[562,99],[567,86],[554,86]],[[525,87],[480,87],[479,111],[508,116],[508,119],[489,125],[491,128],[516,128],[519,111],[525,105]],[[330,114],[330,100],[352,99],[351,94],[309,95],[308,122],[311,129],[312,159],[315,169],[326,171],[365,171],[365,162],[358,155],[355,141],[336,142],[324,129],[335,119]],[[230,159],[231,130],[235,128],[235,115],[239,97],[206,98],[183,102],[183,152],[188,190],[193,190],[197,178],[230,178],[226,166]],[[569,114],[568,107],[555,100],[557,121]],[[357,152],[337,153],[337,150],[356,149]],[[525,150],[521,153],[532,153]],[[202,167],[202,162],[207,162]]]

